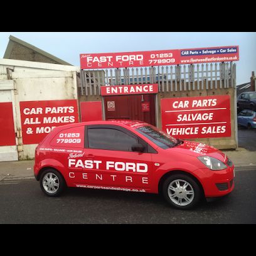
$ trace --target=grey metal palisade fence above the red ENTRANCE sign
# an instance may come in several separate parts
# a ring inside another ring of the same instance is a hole
[[[81,95],[100,95],[104,85],[158,83],[159,92],[235,87],[233,62],[80,71]],[[219,81],[219,82],[218,82]]]

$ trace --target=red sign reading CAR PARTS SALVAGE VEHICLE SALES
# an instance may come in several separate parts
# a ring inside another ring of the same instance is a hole
[[[161,99],[162,129],[179,139],[230,137],[230,95]]]

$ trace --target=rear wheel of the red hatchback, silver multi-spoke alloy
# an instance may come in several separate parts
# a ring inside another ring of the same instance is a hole
[[[59,196],[66,187],[65,179],[55,169],[46,169],[40,177],[40,187],[48,196]]]

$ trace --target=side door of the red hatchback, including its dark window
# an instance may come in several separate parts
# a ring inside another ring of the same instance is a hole
[[[83,183],[107,189],[147,191],[151,185],[149,152],[134,152],[139,137],[118,125],[88,125],[83,161],[88,164]]]

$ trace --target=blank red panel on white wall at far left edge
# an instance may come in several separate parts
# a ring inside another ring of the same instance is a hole
[[[0,146],[15,146],[12,102],[0,103],[0,127]]]

